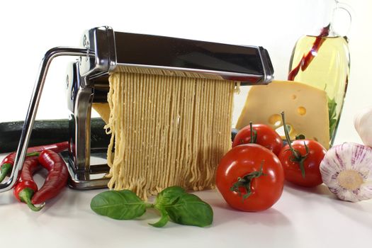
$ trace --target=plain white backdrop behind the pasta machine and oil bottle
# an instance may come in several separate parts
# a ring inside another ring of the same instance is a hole
[[[44,53],[51,47],[77,46],[81,33],[96,26],[114,30],[239,45],[269,50],[276,79],[286,79],[295,41],[319,27],[323,0],[260,1],[4,1],[0,9],[0,122],[24,120]],[[346,0],[354,11],[349,30],[351,74],[336,143],[359,142],[355,111],[372,105],[368,77],[372,57],[372,1]],[[67,63],[50,67],[39,119],[67,118],[64,79]],[[242,104],[244,98],[239,99]],[[236,118],[236,114],[235,114]]]

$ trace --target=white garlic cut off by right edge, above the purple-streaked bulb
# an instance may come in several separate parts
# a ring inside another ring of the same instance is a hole
[[[372,147],[372,106],[363,108],[354,116],[354,128],[364,145]]]

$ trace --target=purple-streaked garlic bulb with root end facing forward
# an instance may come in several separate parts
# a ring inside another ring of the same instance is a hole
[[[323,182],[342,201],[372,198],[372,148],[356,143],[335,145],[320,163]]]

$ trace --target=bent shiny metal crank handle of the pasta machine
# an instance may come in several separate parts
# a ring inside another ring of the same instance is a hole
[[[19,140],[16,157],[14,159],[13,170],[11,171],[11,176],[9,177],[8,181],[6,181],[3,184],[0,184],[0,193],[4,191],[9,191],[11,188],[13,188],[14,184],[16,184],[19,172],[22,170],[23,162],[26,157],[28,142],[30,140],[31,132],[33,130],[35,116],[38,111],[40,96],[43,91],[45,78],[47,77],[47,70],[50,66],[50,62],[52,62],[52,60],[55,57],[59,56],[93,57],[94,52],[91,52],[91,50],[87,48],[81,47],[54,47],[45,53],[43,60],[40,63],[38,79],[35,81],[33,94],[31,96],[30,104],[28,106],[26,120],[25,123],[23,124],[21,138]]]

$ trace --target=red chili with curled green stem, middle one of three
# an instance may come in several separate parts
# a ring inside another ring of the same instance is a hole
[[[28,157],[23,163],[21,177],[14,187],[14,196],[23,203],[26,203],[31,210],[39,211],[44,205],[35,206],[31,203],[33,194],[38,191],[38,186],[33,181],[33,174],[39,169],[37,157]]]

